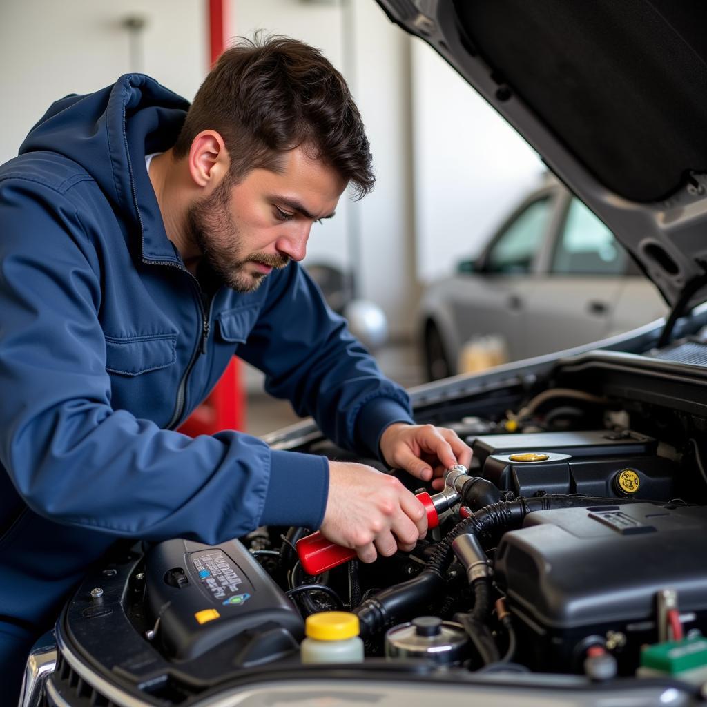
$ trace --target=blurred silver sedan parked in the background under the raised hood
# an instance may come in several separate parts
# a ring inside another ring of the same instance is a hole
[[[667,306],[614,234],[556,180],[421,298],[429,380],[626,332]]]

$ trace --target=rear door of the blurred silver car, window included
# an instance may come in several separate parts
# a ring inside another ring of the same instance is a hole
[[[626,281],[629,255],[604,223],[569,195],[562,214],[544,273],[525,291],[526,356],[608,336]]]

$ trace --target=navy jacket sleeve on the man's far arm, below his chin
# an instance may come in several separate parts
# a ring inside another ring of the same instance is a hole
[[[296,262],[269,277],[266,303],[238,356],[266,373],[267,392],[312,415],[328,438],[379,457],[385,427],[412,423],[407,393],[382,375]]]

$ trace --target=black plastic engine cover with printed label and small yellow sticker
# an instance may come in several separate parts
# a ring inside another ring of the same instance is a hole
[[[246,631],[275,633],[283,645],[303,637],[300,614],[238,540],[168,540],[150,551],[145,573],[160,645],[172,658],[197,658]]]

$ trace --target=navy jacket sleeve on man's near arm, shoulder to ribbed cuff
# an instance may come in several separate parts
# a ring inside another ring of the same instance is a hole
[[[0,185],[0,462],[35,513],[123,537],[214,544],[318,527],[325,457],[191,439],[110,404],[97,252],[66,194]]]

